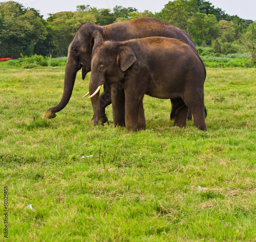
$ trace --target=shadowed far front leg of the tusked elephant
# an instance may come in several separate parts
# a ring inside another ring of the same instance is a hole
[[[125,127],[125,95],[121,82],[111,85],[114,127]]]

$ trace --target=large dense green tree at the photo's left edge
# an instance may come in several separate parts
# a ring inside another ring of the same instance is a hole
[[[35,14],[36,13],[36,14]],[[34,46],[47,35],[45,20],[38,11],[9,1],[0,3],[0,56],[32,55]]]

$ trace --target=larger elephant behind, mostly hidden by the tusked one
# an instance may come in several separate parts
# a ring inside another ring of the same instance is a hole
[[[95,30],[98,31],[97,34],[95,34]],[[82,24],[75,34],[68,49],[68,59],[65,70],[62,98],[56,106],[47,110],[45,117],[56,117],[55,113],[61,111],[68,104],[72,95],[77,72],[82,69],[82,79],[84,79],[86,74],[91,71],[92,51],[94,46],[97,46],[100,41],[124,41],[152,36],[163,36],[179,39],[184,43],[187,43],[187,45],[197,52],[193,41],[185,31],[153,17],[142,17],[106,26],[99,26],[93,23]],[[122,85],[119,85],[118,87],[119,88],[115,89],[114,91],[113,87],[109,87],[100,95],[100,114],[102,123],[108,121],[108,118],[105,115],[105,107],[111,104],[113,94],[114,99],[122,100],[122,103],[125,101],[123,87]],[[177,104],[175,101],[172,101],[173,113],[170,116],[170,119],[175,117],[175,113],[177,113],[175,111],[178,108],[179,103]],[[121,115],[124,114],[121,113],[119,116],[121,117]],[[121,119],[124,120],[124,116]]]

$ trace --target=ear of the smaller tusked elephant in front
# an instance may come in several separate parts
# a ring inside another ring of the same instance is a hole
[[[125,72],[137,60],[133,50],[127,45],[118,45],[120,50],[117,56],[117,64]]]

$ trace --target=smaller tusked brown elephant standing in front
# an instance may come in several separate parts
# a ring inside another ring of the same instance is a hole
[[[206,70],[198,53],[174,38],[147,37],[126,41],[103,41],[92,56],[89,94],[94,125],[100,120],[99,90],[121,82],[125,93],[125,127],[145,129],[143,97],[149,95],[174,100],[180,112],[174,125],[185,127],[188,108],[194,126],[206,130],[204,82]],[[114,124],[119,105],[112,98]]]

